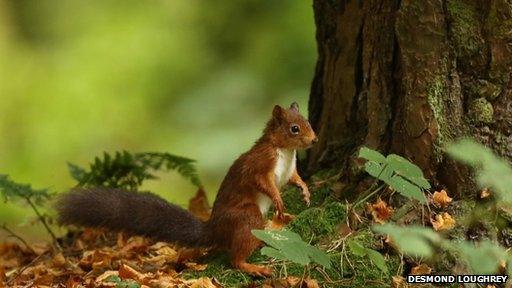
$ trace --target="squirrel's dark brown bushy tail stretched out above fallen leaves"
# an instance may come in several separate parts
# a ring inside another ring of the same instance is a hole
[[[206,223],[148,192],[75,189],[57,200],[59,223],[104,227],[187,247],[210,246]]]

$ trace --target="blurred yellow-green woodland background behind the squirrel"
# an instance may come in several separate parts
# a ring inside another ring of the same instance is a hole
[[[0,174],[62,192],[75,184],[68,161],[170,152],[198,161],[212,202],[274,104],[297,101],[307,114],[312,10],[297,0],[0,0]],[[181,205],[195,194],[160,176],[143,188]],[[0,224],[45,237],[31,215],[0,203]]]

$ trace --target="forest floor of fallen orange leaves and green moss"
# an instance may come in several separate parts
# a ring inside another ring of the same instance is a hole
[[[283,192],[287,211],[295,215],[286,229],[326,251],[333,264],[329,269],[315,264],[304,266],[276,260],[257,251],[249,262],[274,269],[274,277],[264,279],[232,269],[225,253],[201,251],[200,255],[193,253],[196,257],[191,257],[190,250],[168,243],[123,233],[85,229],[70,231],[59,239],[58,247],[50,243],[28,244],[15,240],[0,243],[0,287],[402,288],[409,287],[403,275],[451,271],[452,267],[449,266],[453,261],[441,260],[433,264],[404,257],[397,253],[389,239],[371,229],[374,223],[392,220],[421,222],[430,218],[425,216],[425,211],[409,205],[395,211],[388,204],[392,201],[391,195],[387,202],[380,197],[359,197],[362,201],[349,205],[341,199],[340,193],[345,193],[346,187],[338,180],[337,175],[329,173],[314,176],[309,183],[311,207],[301,201],[297,189],[290,188]],[[443,199],[437,201],[446,202],[449,197]],[[191,199],[189,210],[205,219],[209,215],[207,203],[204,194],[199,193]],[[462,203],[450,205],[453,208],[447,213],[451,215],[471,209]],[[455,227],[455,222],[448,222],[434,222],[433,225],[451,225],[450,229]],[[283,228],[275,219],[269,219],[268,223],[269,229]],[[460,234],[466,230],[455,227],[452,231]],[[375,257],[375,253],[381,255],[382,263],[378,263],[380,258]]]

